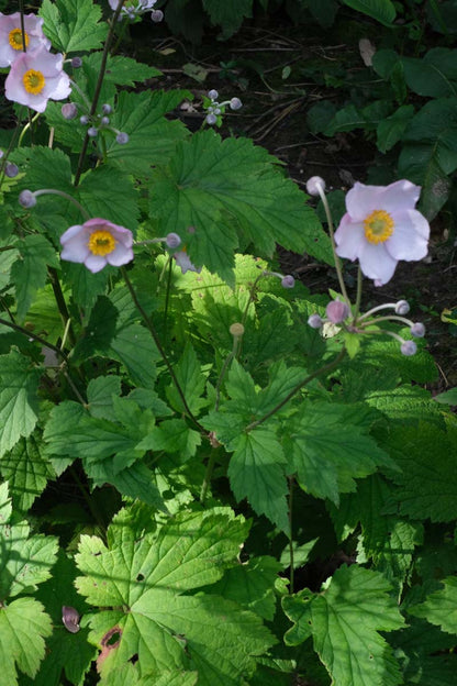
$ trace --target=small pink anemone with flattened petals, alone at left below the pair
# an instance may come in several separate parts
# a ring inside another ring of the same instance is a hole
[[[132,232],[107,219],[89,219],[60,236],[62,259],[85,264],[96,274],[107,264],[120,267],[133,259]]]

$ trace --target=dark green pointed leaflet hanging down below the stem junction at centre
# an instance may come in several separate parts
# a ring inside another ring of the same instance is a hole
[[[236,499],[247,498],[257,514],[266,514],[282,531],[290,529],[286,465],[275,432],[263,428],[239,436],[228,465]]]

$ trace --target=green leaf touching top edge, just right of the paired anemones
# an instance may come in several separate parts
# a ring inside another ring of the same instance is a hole
[[[101,9],[92,0],[43,0],[38,14],[53,47],[63,53],[98,49],[107,36]]]

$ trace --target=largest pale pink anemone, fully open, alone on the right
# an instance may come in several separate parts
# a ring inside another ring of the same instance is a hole
[[[378,286],[392,278],[399,259],[425,257],[430,225],[414,209],[420,193],[420,186],[404,179],[390,186],[356,182],[335,232],[336,254],[358,259],[361,272]]]

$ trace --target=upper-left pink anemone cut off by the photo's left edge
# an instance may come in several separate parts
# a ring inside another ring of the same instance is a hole
[[[47,51],[51,41],[42,31],[43,19],[35,14],[24,14],[24,36],[21,29],[21,13],[2,14],[0,12],[0,67],[9,67],[24,49],[32,52],[40,46]]]

